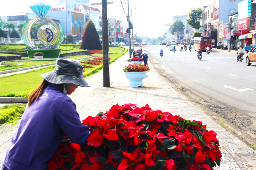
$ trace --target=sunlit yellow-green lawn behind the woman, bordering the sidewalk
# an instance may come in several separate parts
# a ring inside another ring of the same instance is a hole
[[[117,51],[121,51],[119,48],[123,50],[123,52],[127,52],[126,48],[117,47]],[[113,48],[114,49],[114,48]],[[124,54],[124,53],[123,53]],[[110,54],[109,62],[115,61],[118,57],[123,54]],[[102,56],[102,54],[98,54],[98,56]],[[90,64],[86,64],[90,65]],[[94,68],[84,69],[85,72],[84,77],[90,76],[98,70],[102,69],[101,65],[92,65]],[[2,66],[1,66],[2,67]],[[30,93],[33,89],[35,89],[43,80],[40,76],[43,73],[53,71],[55,66],[49,66],[45,68],[41,68],[39,70],[33,70],[26,73],[14,74],[11,76],[3,76],[0,77],[0,97],[26,97],[28,93]]]

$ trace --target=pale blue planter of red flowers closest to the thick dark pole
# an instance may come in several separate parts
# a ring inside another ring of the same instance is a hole
[[[142,80],[146,77],[149,67],[141,64],[129,64],[124,66],[123,71],[125,72],[126,78],[129,80],[129,87],[143,87]]]

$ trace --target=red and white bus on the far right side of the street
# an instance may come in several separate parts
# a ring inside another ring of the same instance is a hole
[[[195,51],[198,51],[199,49],[201,49],[202,51],[206,51],[207,46],[210,47],[210,50],[212,49],[211,37],[195,37],[193,38],[193,41]]]

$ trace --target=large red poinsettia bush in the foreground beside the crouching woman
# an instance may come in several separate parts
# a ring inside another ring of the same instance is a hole
[[[216,133],[200,121],[152,110],[148,104],[114,105],[82,121],[88,146],[61,144],[48,170],[213,170],[222,157]]]

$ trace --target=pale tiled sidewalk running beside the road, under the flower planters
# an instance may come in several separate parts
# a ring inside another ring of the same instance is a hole
[[[133,103],[137,104],[138,107],[148,103],[153,110],[168,111],[189,120],[202,121],[203,124],[207,124],[208,130],[214,130],[218,134],[217,139],[220,140],[222,152],[221,166],[214,168],[215,170],[256,169],[256,151],[249,148],[212,120],[204,111],[176,92],[170,86],[170,82],[161,77],[150,62],[150,71],[143,80],[144,87],[128,87],[128,79],[122,71],[123,66],[129,64],[125,62],[128,55],[126,54],[110,64],[111,87],[103,87],[103,76],[102,71],[100,71],[86,79],[92,87],[79,87],[70,95],[76,104],[81,120],[90,115],[95,116],[100,111],[105,112],[117,103],[119,105]],[[0,168],[7,146],[16,129],[17,125],[0,127]]]

